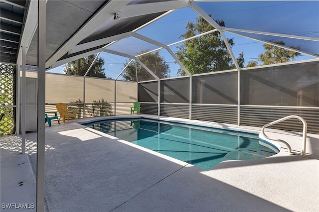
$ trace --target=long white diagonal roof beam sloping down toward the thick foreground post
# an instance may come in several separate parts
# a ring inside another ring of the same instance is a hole
[[[106,19],[113,16],[129,2],[130,0],[111,0],[108,2],[46,61],[46,68],[49,68],[88,34],[104,23]]]

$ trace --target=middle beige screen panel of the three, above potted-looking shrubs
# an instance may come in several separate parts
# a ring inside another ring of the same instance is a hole
[[[85,102],[93,103],[94,101],[114,101],[114,80],[106,80],[101,78],[85,78]]]

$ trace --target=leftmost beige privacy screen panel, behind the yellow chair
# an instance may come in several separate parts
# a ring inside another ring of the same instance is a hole
[[[45,103],[83,102],[82,76],[46,73],[45,81]]]

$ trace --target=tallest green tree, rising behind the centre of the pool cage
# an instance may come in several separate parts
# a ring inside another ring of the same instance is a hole
[[[223,20],[215,21],[220,26],[225,26]],[[212,25],[202,17],[198,17],[195,23],[187,23],[186,32],[180,37],[189,38],[212,29],[214,29]],[[232,38],[227,39],[227,41],[230,46],[234,45]],[[177,48],[179,49],[176,52],[178,59],[191,74],[229,70],[232,68],[233,61],[218,31],[187,40]],[[186,75],[181,69],[178,70],[178,73]]]

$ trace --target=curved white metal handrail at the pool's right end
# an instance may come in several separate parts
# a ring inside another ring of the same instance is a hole
[[[298,116],[298,115],[288,115],[288,116],[283,117],[283,118],[280,118],[280,119],[278,119],[278,120],[276,120],[276,121],[273,121],[273,122],[270,122],[270,123],[268,123],[268,124],[265,124],[265,125],[262,127],[261,132],[262,132],[262,134],[265,136],[265,138],[267,138],[267,139],[285,143],[285,144],[287,145],[287,147],[288,147],[289,153],[290,153],[290,154],[293,154],[293,153],[291,152],[291,147],[290,147],[290,145],[289,145],[286,141],[281,140],[281,139],[276,139],[276,138],[270,138],[270,137],[268,137],[268,136],[265,134],[265,132],[264,132],[264,130],[265,130],[265,128],[266,128],[267,126],[274,125],[274,124],[276,124],[276,123],[282,122],[282,121],[287,120],[287,119],[290,119],[290,118],[297,118],[297,119],[301,120],[301,121],[303,122],[303,124],[304,124],[304,127],[303,127],[302,155],[303,155],[303,156],[306,156],[307,122],[306,122],[306,120],[305,120],[304,118],[302,118],[302,117],[300,117],[300,116]]]

